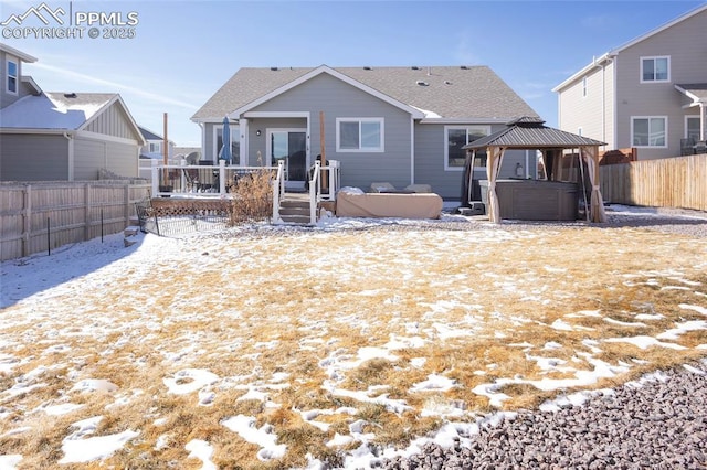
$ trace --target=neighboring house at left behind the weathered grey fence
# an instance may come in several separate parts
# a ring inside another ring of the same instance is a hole
[[[102,170],[136,178],[145,140],[120,96],[43,92],[22,74],[35,61],[0,44],[0,179],[97,180]]]

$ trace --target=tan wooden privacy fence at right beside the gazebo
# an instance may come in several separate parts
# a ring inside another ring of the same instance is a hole
[[[707,211],[707,154],[600,167],[604,201]]]

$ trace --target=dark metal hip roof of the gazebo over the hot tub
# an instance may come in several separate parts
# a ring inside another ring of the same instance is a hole
[[[486,147],[505,147],[509,149],[571,149],[588,146],[605,146],[605,142],[578,136],[544,126],[545,121],[536,117],[520,117],[507,122],[502,129],[490,136],[482,137],[467,143],[462,149],[482,149]]]

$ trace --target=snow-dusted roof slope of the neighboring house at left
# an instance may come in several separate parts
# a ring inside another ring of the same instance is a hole
[[[76,130],[116,97],[114,93],[25,96],[0,109],[0,122],[3,128]]]

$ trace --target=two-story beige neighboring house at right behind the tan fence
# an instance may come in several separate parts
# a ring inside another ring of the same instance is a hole
[[[558,124],[639,159],[707,138],[707,4],[592,60],[556,86]]]

